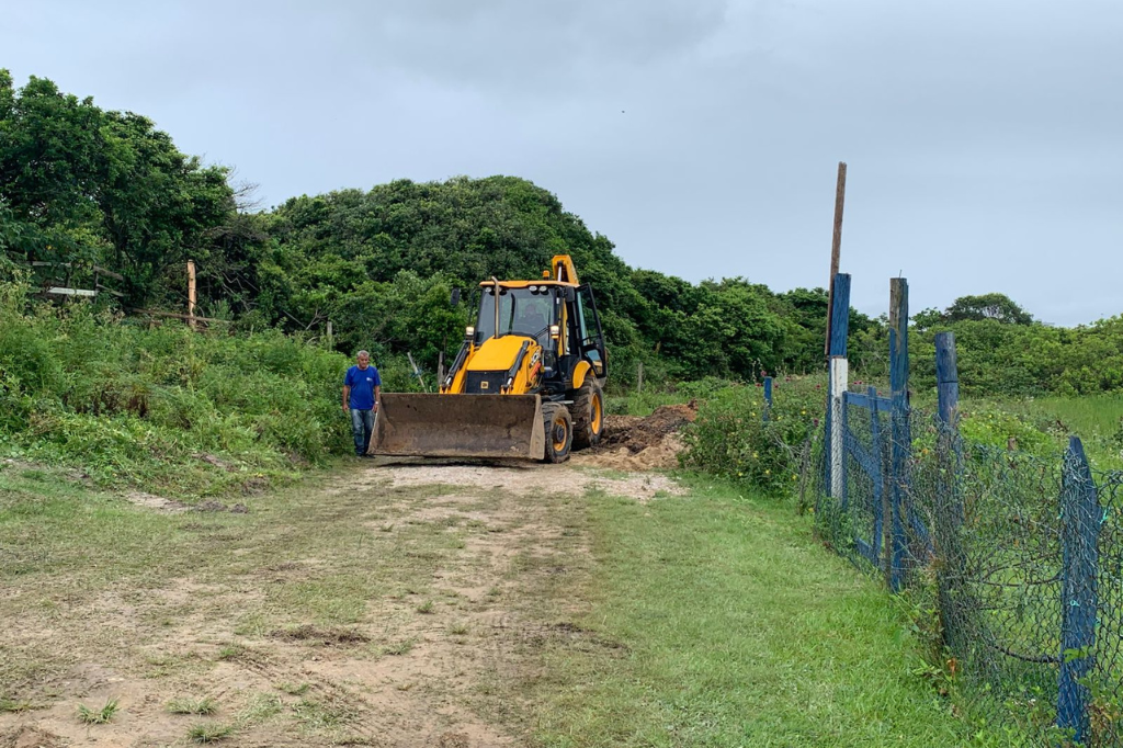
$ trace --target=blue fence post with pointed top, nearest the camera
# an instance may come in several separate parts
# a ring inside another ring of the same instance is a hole
[[[1072,730],[1076,742],[1083,744],[1088,733],[1089,694],[1080,679],[1095,663],[1099,501],[1077,437],[1069,438],[1065,455],[1060,517],[1065,567],[1057,727]]]

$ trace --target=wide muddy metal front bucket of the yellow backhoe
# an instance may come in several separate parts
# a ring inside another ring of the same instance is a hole
[[[383,393],[369,454],[541,459],[546,454],[541,399]]]

